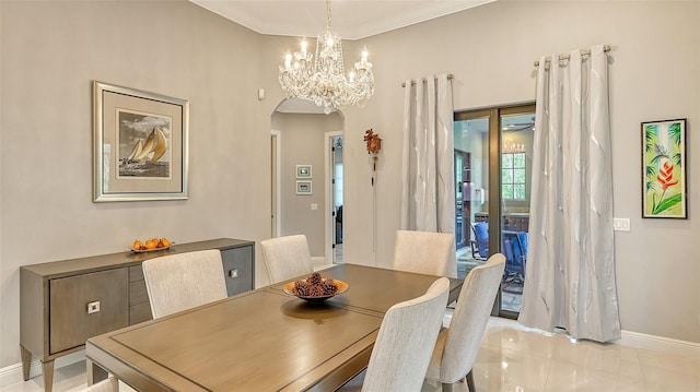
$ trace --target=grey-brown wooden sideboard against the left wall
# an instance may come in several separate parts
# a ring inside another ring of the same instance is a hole
[[[206,249],[221,250],[229,296],[255,288],[255,242],[220,238],[166,250],[102,254],[20,268],[20,349],[24,380],[32,356],[51,391],[54,360],[84,348],[95,335],[151,320],[141,263]]]

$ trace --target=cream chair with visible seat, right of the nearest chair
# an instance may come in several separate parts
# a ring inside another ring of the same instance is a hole
[[[425,378],[442,383],[443,392],[466,377],[469,392],[476,392],[471,367],[479,353],[483,331],[503,276],[505,256],[495,253],[469,271],[462,285],[450,328],[442,329]]]

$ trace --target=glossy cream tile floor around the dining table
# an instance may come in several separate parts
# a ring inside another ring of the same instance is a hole
[[[450,317],[448,312],[445,322]],[[571,342],[561,334],[542,333],[513,320],[491,318],[474,376],[480,392],[698,392],[700,357],[619,344]],[[77,392],[84,385],[84,361],[55,372],[56,392]],[[40,377],[1,389],[1,392],[36,391],[43,391]],[[121,384],[120,391],[131,389]],[[421,390],[438,391],[439,385],[430,382]],[[455,391],[466,392],[466,383],[457,383]]]

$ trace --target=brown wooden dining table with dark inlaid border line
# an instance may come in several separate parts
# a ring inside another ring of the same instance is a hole
[[[89,383],[109,372],[138,391],[334,391],[366,368],[384,313],[439,277],[350,263],[320,274],[349,289],[313,304],[281,282],[91,337]],[[460,288],[452,278],[448,302]]]

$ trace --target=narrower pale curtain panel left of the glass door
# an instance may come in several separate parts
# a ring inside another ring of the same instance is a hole
[[[447,74],[406,81],[401,229],[454,233],[454,133]]]

